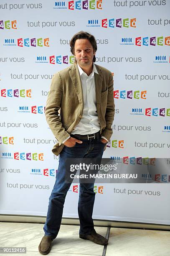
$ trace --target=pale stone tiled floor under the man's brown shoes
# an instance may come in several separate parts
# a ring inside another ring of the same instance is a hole
[[[95,230],[106,236],[107,228]],[[43,224],[0,222],[0,247],[26,247],[23,255],[40,256],[38,244],[43,234]],[[52,245],[49,256],[102,256],[104,250],[104,246],[80,239],[79,226],[74,225],[61,225]],[[106,256],[170,256],[169,245],[169,231],[111,228]]]

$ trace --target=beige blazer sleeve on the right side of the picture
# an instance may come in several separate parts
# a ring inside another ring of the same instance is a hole
[[[109,141],[112,136],[112,123],[114,120],[115,113],[115,105],[114,105],[114,97],[113,97],[113,76],[112,73],[109,77],[108,82],[108,94],[107,94],[107,108],[105,114],[106,127],[101,133],[101,136],[104,136]]]

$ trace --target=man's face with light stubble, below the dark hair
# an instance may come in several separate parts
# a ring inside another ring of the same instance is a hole
[[[88,39],[77,39],[74,45],[74,56],[80,67],[91,67],[95,52]]]

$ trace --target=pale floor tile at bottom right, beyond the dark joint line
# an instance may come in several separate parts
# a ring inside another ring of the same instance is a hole
[[[111,228],[106,256],[168,256],[170,232]]]

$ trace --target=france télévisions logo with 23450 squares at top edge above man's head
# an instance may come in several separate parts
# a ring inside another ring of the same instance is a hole
[[[102,10],[102,0],[56,1],[53,9]]]

